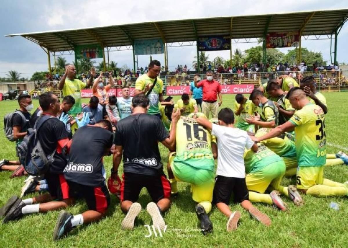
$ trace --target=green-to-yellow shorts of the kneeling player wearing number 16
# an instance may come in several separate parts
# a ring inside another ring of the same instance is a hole
[[[176,181],[191,183],[192,199],[196,202],[212,201],[214,172],[199,170],[195,167],[174,163],[175,152],[169,154],[169,165]]]

